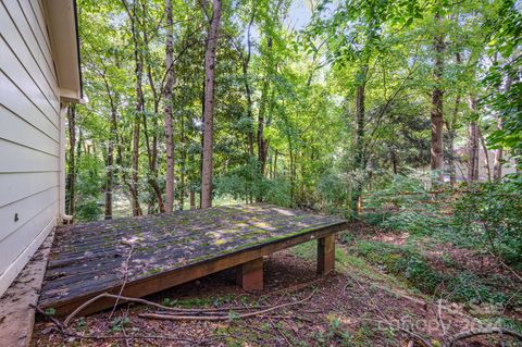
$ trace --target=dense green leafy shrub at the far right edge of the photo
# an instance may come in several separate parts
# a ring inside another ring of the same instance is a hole
[[[522,181],[482,184],[455,206],[455,224],[493,253],[511,264],[522,260]]]

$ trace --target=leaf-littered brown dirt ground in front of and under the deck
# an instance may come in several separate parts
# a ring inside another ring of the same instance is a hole
[[[338,264],[335,272],[320,277],[312,260],[290,250],[265,259],[262,293],[246,293],[234,278],[234,270],[224,271],[147,299],[175,307],[223,309],[306,300],[248,319],[229,313],[219,322],[145,319],[138,314],[158,309],[127,303],[112,317],[108,311],[76,318],[69,329],[74,336],[64,336],[40,317],[33,346],[422,346],[414,334],[440,346],[442,326],[446,336],[477,327],[459,306],[431,303],[430,298],[375,276],[369,278],[349,265]],[[243,312],[252,311],[256,309]],[[456,346],[497,345],[495,337],[475,337]]]

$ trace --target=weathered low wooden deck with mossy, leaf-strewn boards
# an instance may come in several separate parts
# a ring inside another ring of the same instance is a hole
[[[98,294],[117,294],[125,276],[123,295],[142,297],[234,267],[239,284],[261,289],[263,256],[313,238],[325,273],[334,233],[346,226],[334,216],[246,205],[59,227],[39,305],[66,314]],[[112,305],[100,299],[83,313]]]

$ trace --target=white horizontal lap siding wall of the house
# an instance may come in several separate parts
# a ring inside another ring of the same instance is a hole
[[[0,295],[57,223],[60,90],[40,0],[0,2]]]

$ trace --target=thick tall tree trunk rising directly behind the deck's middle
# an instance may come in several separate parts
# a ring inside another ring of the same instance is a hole
[[[203,162],[201,172],[201,208],[212,207],[212,157],[214,121],[214,73],[215,48],[221,22],[221,0],[213,0],[213,13],[209,26],[207,51],[204,53],[204,122]]]

